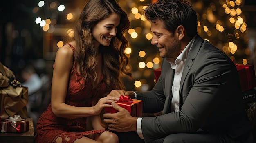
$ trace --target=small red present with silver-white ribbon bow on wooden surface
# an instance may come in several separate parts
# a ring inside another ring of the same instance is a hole
[[[0,121],[1,133],[21,133],[27,132],[29,130],[29,121],[22,119],[20,115],[14,115],[14,117],[9,117],[4,121]]]

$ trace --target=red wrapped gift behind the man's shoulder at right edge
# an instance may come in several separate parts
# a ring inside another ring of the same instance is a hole
[[[235,64],[238,70],[242,92],[256,87],[254,65]]]

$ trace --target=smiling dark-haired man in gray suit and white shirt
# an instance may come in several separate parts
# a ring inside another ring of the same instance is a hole
[[[185,0],[158,0],[144,10],[154,33],[152,44],[163,57],[161,76],[148,92],[112,90],[109,96],[143,100],[143,112],[156,117],[103,114],[108,129],[136,131],[148,142],[252,143],[242,106],[238,72],[231,59],[197,35],[197,15]]]

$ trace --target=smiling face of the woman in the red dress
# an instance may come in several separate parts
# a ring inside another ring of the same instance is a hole
[[[109,46],[112,37],[117,34],[117,26],[120,23],[121,16],[116,13],[112,13],[108,18],[99,21],[92,28],[92,36],[94,38],[94,46],[99,45]]]

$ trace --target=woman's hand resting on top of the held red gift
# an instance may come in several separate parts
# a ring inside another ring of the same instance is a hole
[[[97,104],[93,106],[93,115],[98,115],[100,114],[101,110],[105,107],[112,107],[111,103],[112,102],[117,102],[119,98],[117,97],[112,97],[112,96],[107,96],[99,99]],[[108,104],[109,103],[109,104]]]

